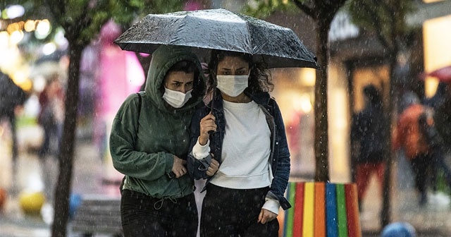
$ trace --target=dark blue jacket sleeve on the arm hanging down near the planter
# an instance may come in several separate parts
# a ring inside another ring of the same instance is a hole
[[[276,195],[280,207],[288,209],[291,207],[288,200],[285,198],[285,190],[288,186],[288,179],[290,178],[290,151],[288,150],[288,142],[285,134],[285,126],[283,124],[282,114],[275,100],[273,100],[273,117],[276,123],[276,148],[274,154],[277,156],[276,170],[273,171],[273,181],[271,183],[270,192]],[[272,167],[274,169],[274,167]],[[269,195],[271,195],[271,193]]]

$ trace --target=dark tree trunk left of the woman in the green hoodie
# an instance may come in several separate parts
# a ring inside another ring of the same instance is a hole
[[[70,41],[70,63],[66,90],[66,112],[63,135],[58,154],[59,174],[55,188],[54,223],[51,236],[64,237],[69,218],[69,196],[72,185],[73,151],[79,94],[80,61],[83,47]]]

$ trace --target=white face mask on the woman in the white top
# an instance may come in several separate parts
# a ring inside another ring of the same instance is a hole
[[[247,88],[249,75],[216,75],[218,87],[221,92],[230,97],[236,97]]]

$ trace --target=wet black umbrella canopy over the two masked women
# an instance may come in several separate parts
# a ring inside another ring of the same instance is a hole
[[[149,14],[114,42],[121,49],[148,54],[171,44],[192,47],[204,60],[209,49],[222,49],[252,54],[268,68],[319,68],[290,28],[222,8]]]

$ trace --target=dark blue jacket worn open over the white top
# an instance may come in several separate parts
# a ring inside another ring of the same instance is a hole
[[[285,198],[284,193],[288,185],[288,178],[290,177],[290,152],[288,150],[287,138],[285,135],[285,126],[283,125],[282,115],[276,100],[270,97],[268,92],[261,92],[257,95],[249,95],[254,102],[262,107],[265,112],[266,121],[271,130],[271,169],[273,173],[273,181],[271,188],[267,194],[268,197],[276,198],[280,207],[288,209],[291,207],[288,200]],[[206,114],[211,111],[210,102],[208,105],[198,109],[191,121],[191,150],[197,142],[197,138],[200,134],[199,123]],[[216,159],[221,163],[222,144],[224,138],[224,130],[226,130],[226,120],[224,118],[223,102],[221,92],[216,90],[216,97],[213,99],[214,109],[213,115],[216,118],[216,124],[218,128],[216,133],[210,135],[210,152],[214,155],[213,159]],[[188,156],[187,167],[190,175],[196,179],[206,178],[206,184],[209,183],[211,177],[206,176],[206,168],[209,166],[211,156],[202,160]],[[203,189],[205,190],[205,188]],[[203,191],[202,190],[202,191]]]

